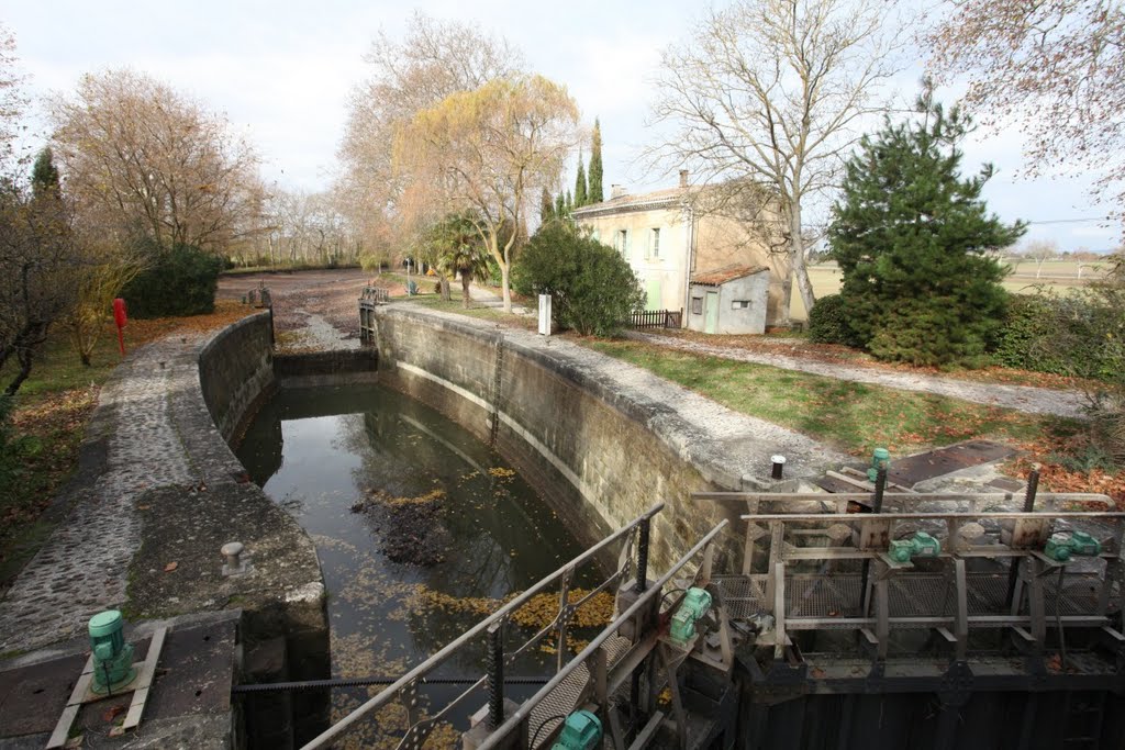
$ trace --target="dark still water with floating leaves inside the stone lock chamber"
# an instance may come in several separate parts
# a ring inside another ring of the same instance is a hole
[[[256,416],[237,454],[316,542],[334,676],[397,676],[483,617],[461,600],[507,596],[582,552],[500,455],[436,412],[381,387],[282,390]],[[410,530],[393,528],[372,498],[434,490],[448,530],[443,561],[390,561],[382,552],[386,535]],[[353,513],[358,503],[372,509]],[[513,674],[541,668],[542,658]],[[482,663],[466,654],[465,663],[444,671],[479,674]]]

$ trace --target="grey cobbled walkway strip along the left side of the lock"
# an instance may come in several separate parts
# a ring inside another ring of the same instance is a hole
[[[86,442],[105,445],[104,471],[76,490],[73,510],[0,602],[0,652],[80,635],[92,615],[125,602],[141,545],[136,498],[195,482],[169,397],[190,387],[199,338],[171,336],[137,350],[101,389]]]

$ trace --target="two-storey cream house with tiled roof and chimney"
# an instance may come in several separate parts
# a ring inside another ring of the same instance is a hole
[[[740,317],[760,318],[764,325],[782,320],[788,261],[770,253],[758,227],[695,210],[692,198],[700,190],[706,188],[690,186],[686,171],[680,173],[678,187],[655,192],[632,196],[613,186],[609,200],[575,209],[574,218],[629,261],[647,295],[647,309],[684,310],[686,325],[694,279],[765,269],[768,281],[752,284],[755,291],[764,289],[764,297],[740,298],[753,308],[744,308]]]

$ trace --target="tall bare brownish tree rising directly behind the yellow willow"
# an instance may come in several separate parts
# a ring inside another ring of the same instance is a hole
[[[345,207],[364,244],[378,249],[403,234],[402,226],[387,226],[400,219],[403,186],[393,165],[396,130],[446,97],[515,75],[524,63],[503,38],[421,12],[402,42],[380,33],[364,60],[372,71],[351,96],[339,152],[341,187],[352,196]]]

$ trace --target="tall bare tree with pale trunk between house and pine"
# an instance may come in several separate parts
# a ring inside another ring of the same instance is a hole
[[[716,189],[709,199],[778,238],[792,277],[786,317],[792,279],[806,309],[816,301],[804,208],[836,187],[864,118],[885,111],[878,93],[894,73],[894,45],[879,0],[741,0],[708,11],[686,42],[664,53],[652,114],[676,127],[648,155],[726,183],[726,198],[717,200]]]

